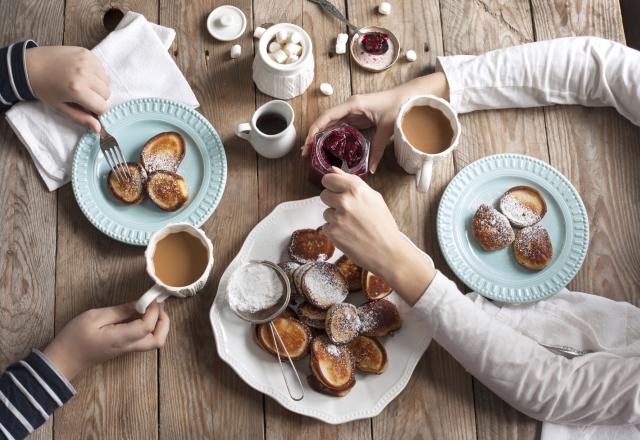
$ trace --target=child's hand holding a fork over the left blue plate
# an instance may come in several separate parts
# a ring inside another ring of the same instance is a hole
[[[73,46],[27,49],[27,74],[33,93],[75,122],[100,132],[91,113],[107,110],[109,78],[100,61],[89,50]]]

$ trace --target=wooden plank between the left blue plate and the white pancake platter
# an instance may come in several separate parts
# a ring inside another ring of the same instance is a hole
[[[228,177],[216,213],[204,225],[215,249],[214,273],[197,297],[170,301],[173,328],[160,352],[160,436],[165,439],[262,438],[262,397],[217,355],[209,308],[218,281],[257,223],[256,158],[234,137],[234,127],[253,113],[252,39],[243,37],[242,56],[229,59],[231,43],[213,40],[205,19],[220,2],[160,2],[160,23],[176,29],[174,54],[200,101],[200,112],[216,127],[226,149]],[[252,26],[251,1],[234,2]]]

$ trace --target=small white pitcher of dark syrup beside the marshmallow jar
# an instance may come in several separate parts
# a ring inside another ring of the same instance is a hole
[[[260,116],[276,113],[287,122],[287,127],[280,133],[266,134],[256,126]],[[293,125],[293,108],[284,101],[273,100],[263,104],[256,110],[250,122],[238,124],[236,136],[251,143],[256,152],[268,159],[277,159],[287,154],[296,142],[296,127]]]

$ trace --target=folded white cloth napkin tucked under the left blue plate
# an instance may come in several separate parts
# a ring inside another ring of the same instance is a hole
[[[162,97],[197,107],[189,83],[167,49],[173,29],[149,23],[128,12],[118,27],[92,52],[111,82],[109,108],[141,97]],[[27,147],[49,191],[71,177],[73,149],[86,129],[39,101],[14,105],[6,114],[9,125]]]

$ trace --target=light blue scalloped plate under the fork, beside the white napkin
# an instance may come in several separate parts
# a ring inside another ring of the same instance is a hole
[[[98,135],[87,133],[76,146],[71,181],[80,209],[96,228],[118,241],[145,246],[151,234],[169,223],[198,227],[207,221],[224,192],[227,159],[218,133],[200,113],[168,99],[140,98],[115,106],[100,120],[129,162],[140,162],[142,146],[152,136],[180,133],[186,153],[178,174],[187,181],[189,200],[175,212],[162,211],[148,198],[139,205],[119,202],[106,185],[109,166]]]

